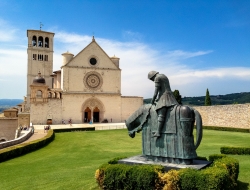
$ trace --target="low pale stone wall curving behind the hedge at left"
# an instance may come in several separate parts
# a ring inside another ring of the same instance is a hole
[[[28,131],[22,131],[20,137],[18,137],[17,139],[0,143],[0,149],[22,143],[30,138],[33,133],[34,129],[32,127]]]

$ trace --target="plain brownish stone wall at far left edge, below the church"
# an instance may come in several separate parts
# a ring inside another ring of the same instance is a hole
[[[16,118],[0,118],[0,141],[9,141],[15,138],[15,132],[18,127],[18,121]]]

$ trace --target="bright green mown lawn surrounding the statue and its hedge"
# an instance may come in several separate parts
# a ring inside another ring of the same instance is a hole
[[[221,146],[250,146],[250,134],[204,130],[197,152],[208,157]],[[99,165],[119,156],[141,154],[141,135],[127,130],[56,133],[46,147],[0,163],[0,189],[98,189]],[[250,155],[232,156],[240,162],[239,180],[250,183]],[[244,188],[247,189],[247,188]]]

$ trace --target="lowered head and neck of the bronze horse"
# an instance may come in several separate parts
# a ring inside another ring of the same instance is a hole
[[[126,121],[125,125],[128,129],[128,134],[131,138],[135,137],[135,132],[142,130],[142,125],[147,119],[151,105],[142,105],[137,111],[135,111]]]

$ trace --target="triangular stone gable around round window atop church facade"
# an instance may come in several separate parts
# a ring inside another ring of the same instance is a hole
[[[97,64],[95,66],[90,64],[91,58],[95,58],[97,60]],[[99,46],[94,38],[89,45],[80,51],[65,66],[119,69],[119,67],[110,59],[107,53]]]

